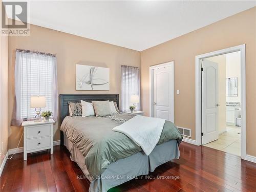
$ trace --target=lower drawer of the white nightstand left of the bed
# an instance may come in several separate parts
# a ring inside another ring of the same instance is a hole
[[[43,148],[51,146],[51,136],[49,137],[41,137],[36,139],[28,139],[27,141],[27,150],[35,150],[37,148]]]

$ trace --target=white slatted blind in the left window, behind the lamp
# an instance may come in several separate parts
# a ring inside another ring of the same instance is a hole
[[[45,57],[23,58],[22,83],[20,92],[21,115],[33,118],[35,109],[30,108],[30,97],[33,95],[46,96],[46,107],[42,111],[52,111],[52,60]]]

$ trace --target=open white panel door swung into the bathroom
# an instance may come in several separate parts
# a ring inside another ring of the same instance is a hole
[[[218,132],[218,63],[202,61],[202,144],[219,138]]]

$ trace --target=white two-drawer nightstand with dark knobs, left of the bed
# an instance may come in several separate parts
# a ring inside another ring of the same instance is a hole
[[[41,150],[51,149],[53,154],[53,123],[40,121],[23,121],[24,126],[24,161],[27,160],[27,154]]]

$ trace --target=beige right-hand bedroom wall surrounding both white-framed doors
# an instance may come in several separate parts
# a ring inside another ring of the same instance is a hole
[[[195,56],[246,44],[246,146],[247,154],[256,156],[255,47],[256,8],[251,8],[219,22],[141,52],[142,110],[148,115],[149,67],[175,62],[175,123],[190,128],[195,139]]]

